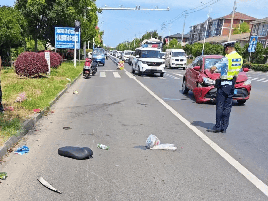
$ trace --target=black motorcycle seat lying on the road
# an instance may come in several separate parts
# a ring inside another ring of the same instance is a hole
[[[82,160],[86,158],[91,159],[93,151],[89,147],[61,147],[58,149],[58,154],[61,156]]]

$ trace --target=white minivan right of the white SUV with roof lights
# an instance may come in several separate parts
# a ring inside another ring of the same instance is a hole
[[[167,49],[165,54],[165,64],[172,68],[183,68],[186,67],[187,55],[183,49]]]

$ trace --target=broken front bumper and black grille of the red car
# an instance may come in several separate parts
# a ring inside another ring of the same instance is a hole
[[[233,95],[233,100],[247,100],[250,98],[251,85],[236,84],[237,94]],[[196,103],[216,102],[217,88],[196,87],[193,89]]]

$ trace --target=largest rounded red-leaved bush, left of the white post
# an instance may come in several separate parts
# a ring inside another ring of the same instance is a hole
[[[38,73],[47,73],[49,67],[43,55],[36,52],[23,52],[15,62],[15,72],[19,76],[31,77]]]

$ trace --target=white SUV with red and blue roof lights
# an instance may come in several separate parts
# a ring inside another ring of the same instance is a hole
[[[142,73],[160,73],[160,77],[165,73],[165,60],[162,59],[158,49],[152,47],[138,47],[132,57],[131,72],[138,71],[138,76]]]

